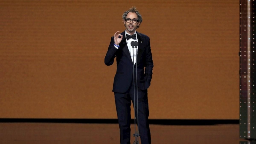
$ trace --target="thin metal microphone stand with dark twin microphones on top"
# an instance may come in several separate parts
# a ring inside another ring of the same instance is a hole
[[[139,110],[138,110],[138,74],[137,74],[137,46],[138,46],[138,42],[137,41],[132,41],[131,42],[131,46],[132,46],[132,60],[133,60],[133,95],[134,95],[134,129],[135,129],[135,133],[133,134],[133,136],[135,137],[135,140],[133,142],[133,144],[139,144],[138,141],[138,137],[140,136],[140,132],[139,132]],[[134,49],[135,48],[135,52],[136,52],[136,96],[137,96],[137,103],[135,101],[135,77],[134,77]],[[136,109],[135,109],[135,105],[137,104],[137,126],[138,126],[138,131],[136,132]]]

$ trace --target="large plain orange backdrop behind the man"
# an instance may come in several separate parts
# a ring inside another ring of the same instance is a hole
[[[134,5],[149,118],[239,119],[238,0],[0,0],[0,118],[117,118],[104,57]]]

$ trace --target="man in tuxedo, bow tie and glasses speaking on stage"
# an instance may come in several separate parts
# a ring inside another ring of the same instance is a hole
[[[132,101],[133,106],[135,102],[135,116],[139,124],[138,128],[141,144],[150,144],[148,88],[152,78],[153,60],[149,37],[136,31],[142,22],[142,16],[139,11],[136,10],[136,7],[132,7],[124,12],[123,22],[126,28],[125,31],[121,34],[117,31],[114,36],[111,37],[108,52],[105,56],[105,64],[107,66],[112,65],[116,57],[117,69],[114,78],[113,92],[115,95],[117,119],[120,129],[120,141],[121,144],[130,144]],[[131,42],[134,43],[134,41],[138,42],[137,47],[131,45]],[[135,79],[134,81],[133,78]]]

